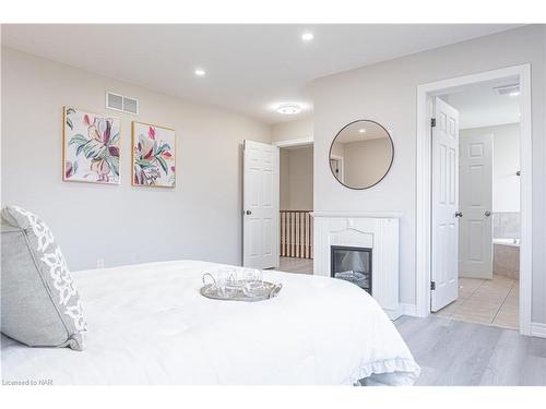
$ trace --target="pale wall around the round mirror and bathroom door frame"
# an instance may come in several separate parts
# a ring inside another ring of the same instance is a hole
[[[396,60],[330,75],[312,84],[314,95],[314,208],[397,210],[401,302],[416,300],[416,89],[438,80],[531,63],[533,117],[533,314],[546,323],[545,280],[545,31],[526,26]],[[346,123],[371,119],[392,130],[394,163],[378,185],[342,187],[331,175],[328,151]]]

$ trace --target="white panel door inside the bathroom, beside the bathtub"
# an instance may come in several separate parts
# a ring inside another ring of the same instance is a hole
[[[492,134],[460,139],[459,276],[492,278]]]

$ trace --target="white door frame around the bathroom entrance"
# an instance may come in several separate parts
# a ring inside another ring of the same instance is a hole
[[[416,312],[430,314],[431,267],[431,98],[446,92],[505,77],[520,83],[520,333],[531,335],[532,309],[532,117],[531,65],[522,64],[436,81],[417,86],[417,161],[416,161]]]

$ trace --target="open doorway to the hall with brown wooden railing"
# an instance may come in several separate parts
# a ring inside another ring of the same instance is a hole
[[[312,274],[312,142],[281,144],[280,179],[280,269]]]

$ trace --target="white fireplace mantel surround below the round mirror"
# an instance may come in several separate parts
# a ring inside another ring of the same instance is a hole
[[[371,293],[397,318],[399,213],[313,212],[313,274],[331,276],[331,246],[371,248]],[[364,291],[364,290],[363,290]]]

